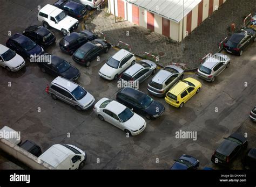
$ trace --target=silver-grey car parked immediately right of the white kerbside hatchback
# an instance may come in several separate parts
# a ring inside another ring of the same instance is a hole
[[[157,71],[157,64],[150,60],[141,60],[133,64],[130,68],[120,75],[120,80],[138,81],[142,83],[150,75],[154,75]]]

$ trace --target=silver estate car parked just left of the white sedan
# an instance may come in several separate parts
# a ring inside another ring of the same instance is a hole
[[[78,111],[89,109],[95,98],[80,85],[58,76],[50,84],[49,93],[53,99],[63,100]]]

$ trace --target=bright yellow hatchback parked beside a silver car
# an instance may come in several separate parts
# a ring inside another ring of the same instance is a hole
[[[201,87],[202,84],[194,78],[185,78],[166,93],[165,101],[172,106],[181,108],[188,99],[200,91]]]

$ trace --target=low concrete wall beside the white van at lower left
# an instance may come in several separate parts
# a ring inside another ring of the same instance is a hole
[[[7,154],[15,157],[15,159],[21,161],[31,169],[55,169],[48,163],[39,160],[38,157],[36,157],[35,155],[32,155],[23,148],[15,145],[14,143],[6,139],[0,139],[0,149],[2,149]]]

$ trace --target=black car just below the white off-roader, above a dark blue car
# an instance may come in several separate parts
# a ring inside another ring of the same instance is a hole
[[[23,31],[23,35],[44,47],[50,46],[56,40],[55,35],[50,30],[39,25],[33,25],[26,28]]]

